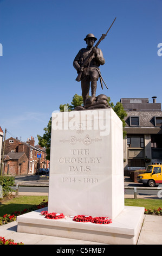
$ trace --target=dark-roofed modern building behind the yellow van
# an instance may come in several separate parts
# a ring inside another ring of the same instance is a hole
[[[162,112],[157,97],[122,98],[127,112],[124,138],[124,170],[145,169],[162,163]]]

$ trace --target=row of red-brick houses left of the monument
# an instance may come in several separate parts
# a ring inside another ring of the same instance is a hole
[[[40,162],[37,154],[41,154]],[[10,137],[5,141],[3,173],[6,175],[33,174],[37,168],[49,168],[46,149],[35,145],[34,138],[22,142]]]

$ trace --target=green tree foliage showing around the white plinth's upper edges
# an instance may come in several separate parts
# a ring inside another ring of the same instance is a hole
[[[118,115],[118,117],[122,121],[122,126],[125,127],[125,120],[124,118],[127,116],[127,113],[124,110],[124,107],[122,106],[121,102],[117,102],[116,105],[114,106],[114,103],[111,102],[111,98],[108,97],[108,105],[111,106],[114,110],[114,112]],[[73,96],[73,100],[71,102],[72,105],[69,105],[69,103],[60,105],[60,112],[64,112],[65,108],[66,111],[73,111],[75,107],[83,105],[83,98],[80,95],[75,94]],[[38,138],[38,144],[41,145],[41,147],[46,148],[46,153],[47,153],[47,160],[50,159],[50,138],[51,138],[51,118],[48,122],[47,127],[44,128],[45,133],[43,134],[43,137],[40,135],[37,135]],[[123,131],[123,137],[126,136],[126,131]]]

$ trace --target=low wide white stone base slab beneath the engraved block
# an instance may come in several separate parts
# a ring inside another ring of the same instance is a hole
[[[17,231],[38,235],[107,243],[109,245],[135,245],[144,220],[144,208],[125,206],[110,224],[81,223],[65,216],[48,220],[40,215],[46,209],[29,212],[17,217]]]

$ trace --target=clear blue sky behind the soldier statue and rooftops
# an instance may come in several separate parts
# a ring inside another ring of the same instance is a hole
[[[157,96],[162,103],[158,44],[161,0],[0,0],[0,126],[7,138],[43,135],[51,113],[81,95],[73,60],[88,33],[100,38],[106,60],[96,95]],[[162,51],[161,51],[162,52]]]

